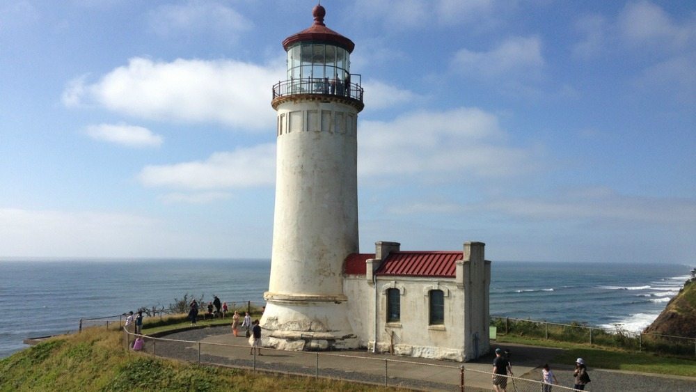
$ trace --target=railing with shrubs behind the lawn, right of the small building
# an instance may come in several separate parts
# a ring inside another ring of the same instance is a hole
[[[512,317],[492,317],[491,325],[498,334],[519,334],[530,338],[558,340],[570,343],[590,343],[607,347],[622,347],[639,352],[656,352],[696,356],[696,338],[646,332],[631,332],[615,324],[614,329],[581,324],[560,324]],[[502,329],[502,331],[501,331]]]

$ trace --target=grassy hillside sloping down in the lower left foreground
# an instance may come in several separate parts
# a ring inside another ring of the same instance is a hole
[[[17,352],[0,361],[0,391],[400,391],[153,359],[123,350],[120,338],[90,328]]]

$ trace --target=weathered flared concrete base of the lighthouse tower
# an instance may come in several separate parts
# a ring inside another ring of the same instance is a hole
[[[342,350],[358,347],[342,301],[269,300],[262,327],[264,347],[280,350]],[[335,329],[343,326],[343,329]]]

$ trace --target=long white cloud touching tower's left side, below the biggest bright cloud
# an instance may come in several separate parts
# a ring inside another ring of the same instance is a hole
[[[215,152],[207,160],[145,166],[138,179],[147,187],[228,189],[274,185],[276,146],[262,144],[233,152]]]

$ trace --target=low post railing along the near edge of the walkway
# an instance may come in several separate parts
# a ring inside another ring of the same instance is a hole
[[[179,359],[200,365],[246,368],[255,372],[283,373],[305,377],[341,379],[362,384],[400,386],[420,391],[466,391],[491,387],[493,373],[441,363],[427,363],[418,359],[390,359],[383,354],[338,354],[331,352],[286,351],[262,347],[263,360],[249,345],[212,343],[200,340],[157,338],[134,334],[126,328],[123,343],[132,350],[137,337],[144,340],[141,353],[151,356]],[[246,340],[245,340],[246,341]],[[270,353],[270,354],[269,354]],[[369,356],[367,356],[369,355]],[[380,358],[381,356],[381,358]],[[408,358],[408,357],[406,357]],[[432,376],[423,377],[422,367],[438,368]],[[488,367],[488,365],[486,365]],[[543,391],[543,382],[522,377],[507,377],[518,391]],[[554,388],[574,391],[554,385]],[[512,389],[510,389],[512,390]]]

